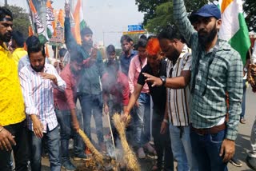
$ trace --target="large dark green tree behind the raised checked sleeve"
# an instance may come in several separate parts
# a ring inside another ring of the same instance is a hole
[[[213,1],[210,0],[210,2]],[[208,0],[185,0],[186,10],[190,13],[208,2]],[[158,33],[166,26],[174,24],[173,2],[168,0],[136,0],[136,4],[138,11],[145,13],[143,25],[149,32]]]

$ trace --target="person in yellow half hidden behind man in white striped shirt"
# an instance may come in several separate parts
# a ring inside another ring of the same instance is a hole
[[[27,55],[26,50],[24,50],[24,42],[25,38],[23,34],[19,31],[14,31],[12,34],[12,39],[11,39],[11,46],[14,48],[13,52],[13,58],[18,66],[18,61],[20,58],[25,57]]]

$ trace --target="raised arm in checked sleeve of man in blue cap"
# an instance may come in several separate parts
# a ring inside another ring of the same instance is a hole
[[[191,47],[191,44],[194,42],[193,34],[197,34],[197,32],[187,17],[184,0],[174,0],[174,22],[178,25],[178,29],[183,38],[186,39],[188,46]]]

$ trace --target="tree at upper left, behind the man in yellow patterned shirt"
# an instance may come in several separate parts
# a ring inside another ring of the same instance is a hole
[[[19,6],[7,6],[7,8],[13,13],[14,16],[13,30],[22,32],[25,38],[28,37],[28,28],[30,26],[29,14],[27,14],[26,10]]]

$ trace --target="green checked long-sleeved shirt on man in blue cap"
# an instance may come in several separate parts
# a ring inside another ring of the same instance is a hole
[[[226,117],[226,92],[229,93],[229,119],[226,138],[235,140],[238,133],[239,115],[242,112],[242,61],[237,51],[226,41],[218,39],[218,49],[209,52],[198,42],[198,32],[187,18],[184,0],[174,0],[174,19],[187,45],[192,50],[190,119],[193,127],[211,128]],[[214,58],[211,58],[213,56]],[[212,61],[210,61],[212,59]],[[198,64],[199,65],[198,65]],[[195,69],[198,74],[194,77]],[[208,72],[207,72],[208,71]],[[194,79],[195,78],[195,79]],[[192,87],[191,87],[192,89]]]

